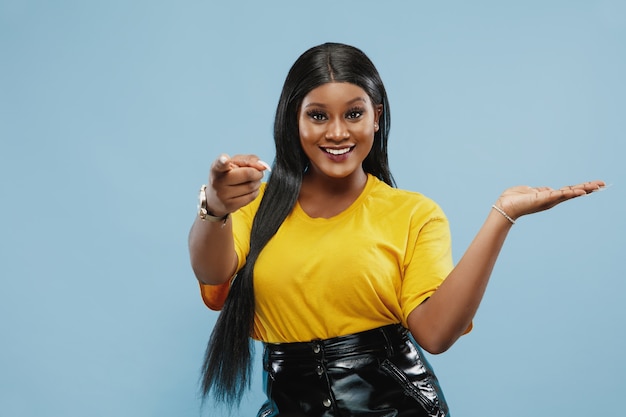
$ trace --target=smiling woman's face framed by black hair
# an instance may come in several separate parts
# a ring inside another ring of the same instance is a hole
[[[374,143],[382,104],[350,83],[327,83],[311,90],[298,110],[300,143],[309,174],[330,178],[360,175]]]

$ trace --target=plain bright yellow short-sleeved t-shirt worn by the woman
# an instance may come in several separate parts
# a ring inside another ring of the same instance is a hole
[[[233,213],[240,269],[261,196]],[[296,204],[254,269],[254,333],[272,343],[325,339],[403,323],[452,270],[448,221],[421,194],[369,176],[361,195],[330,219]],[[228,284],[201,285],[223,305]]]

